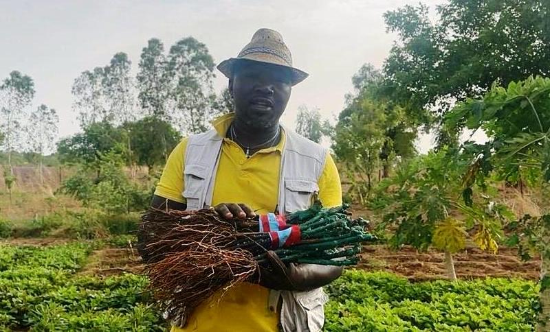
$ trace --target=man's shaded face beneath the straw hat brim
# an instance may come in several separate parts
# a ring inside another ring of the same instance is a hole
[[[252,128],[270,128],[287,107],[290,71],[275,64],[243,61],[229,82],[236,119]]]

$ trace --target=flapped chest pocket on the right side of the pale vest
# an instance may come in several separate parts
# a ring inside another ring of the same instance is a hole
[[[315,181],[285,179],[285,213],[308,209],[313,194],[318,191],[319,186]]]

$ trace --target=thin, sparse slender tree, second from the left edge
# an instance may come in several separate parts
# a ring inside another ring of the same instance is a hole
[[[54,139],[57,136],[57,123],[59,117],[56,110],[48,108],[44,104],[36,108],[30,115],[32,128],[28,130],[30,150],[38,155],[40,181],[44,184],[43,176],[43,156],[46,150],[50,150],[54,145]]]

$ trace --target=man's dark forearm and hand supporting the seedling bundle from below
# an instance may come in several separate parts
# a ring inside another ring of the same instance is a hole
[[[343,268],[316,264],[285,264],[273,251],[267,252],[270,265],[260,267],[259,284],[278,290],[307,291],[336,280]]]

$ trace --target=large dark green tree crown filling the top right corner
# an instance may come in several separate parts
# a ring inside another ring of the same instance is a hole
[[[384,14],[399,39],[384,63],[385,92],[410,117],[430,125],[455,102],[550,69],[550,5],[542,0],[449,0],[437,7],[406,5]],[[456,139],[443,132],[442,143]]]

